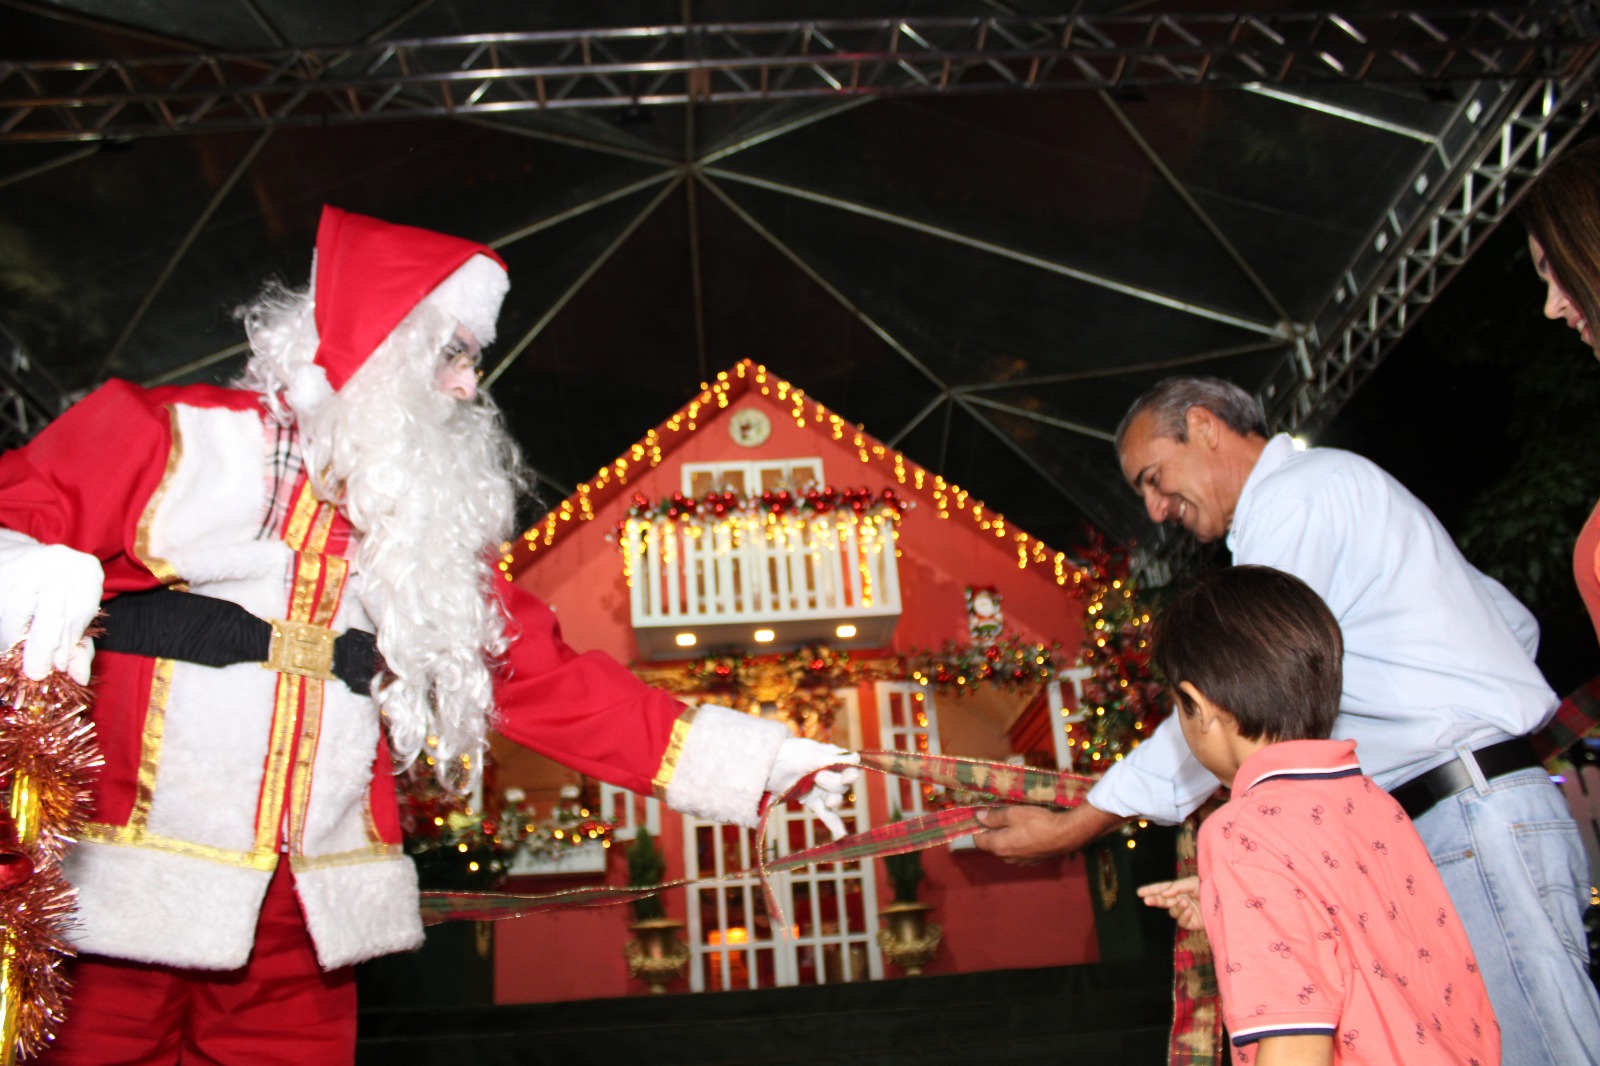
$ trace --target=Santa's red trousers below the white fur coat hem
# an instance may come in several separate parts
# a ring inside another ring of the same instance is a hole
[[[355,973],[323,973],[294,879],[278,863],[242,970],[179,970],[83,957],[50,1066],[349,1066]]]

